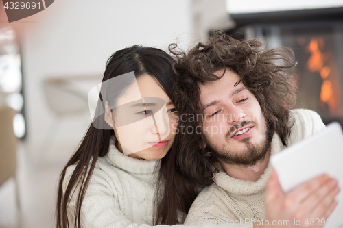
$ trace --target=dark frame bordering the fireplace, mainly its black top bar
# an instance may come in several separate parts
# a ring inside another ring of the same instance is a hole
[[[313,10],[289,10],[280,12],[261,12],[252,14],[230,14],[236,27],[226,31],[235,39],[242,40],[255,36],[268,37],[268,28],[271,27],[325,27],[326,25],[343,25],[343,7],[322,8]],[[257,34],[256,31],[259,31]],[[342,40],[343,45],[343,40]],[[343,56],[342,49],[340,55]],[[343,66],[338,66],[343,88]],[[338,121],[343,127],[343,115],[322,116],[325,124]]]

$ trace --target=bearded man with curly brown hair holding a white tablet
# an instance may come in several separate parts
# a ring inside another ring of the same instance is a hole
[[[271,155],[325,127],[315,112],[289,110],[295,100],[290,51],[266,50],[257,40],[239,42],[221,31],[187,55],[174,50],[176,107],[189,115],[180,121],[186,134],[178,166],[200,185],[214,181],[185,224],[305,227],[307,218],[328,218],[340,191],[335,179],[322,175],[282,194],[269,163]]]

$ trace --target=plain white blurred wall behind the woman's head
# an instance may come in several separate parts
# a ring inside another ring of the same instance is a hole
[[[111,53],[134,44],[167,49],[187,46],[192,33],[191,0],[58,0],[23,27],[21,51],[25,85],[27,144],[32,153],[56,121],[41,83],[47,77],[98,75]],[[86,131],[89,114],[64,118],[54,147],[75,148]],[[54,131],[49,131],[53,134]],[[51,146],[52,147],[52,146]]]

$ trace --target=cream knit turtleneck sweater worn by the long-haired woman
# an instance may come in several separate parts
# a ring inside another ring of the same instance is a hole
[[[80,214],[82,228],[152,227],[154,183],[158,174],[155,170],[158,170],[159,163],[160,160],[139,160],[123,155],[115,147],[115,138],[111,138],[108,154],[98,158],[86,190]],[[64,189],[74,169],[75,166],[67,168]],[[74,193],[68,207],[70,227],[75,221],[76,197],[77,193]]]

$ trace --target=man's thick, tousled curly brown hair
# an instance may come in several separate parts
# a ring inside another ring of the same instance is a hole
[[[289,108],[295,101],[292,74],[296,63],[292,50],[267,49],[257,39],[239,41],[223,31],[215,31],[208,42],[198,43],[188,53],[180,51],[176,44],[169,45],[169,51],[177,60],[174,71],[178,81],[174,94],[179,114],[197,116],[202,113],[199,85],[220,79],[214,73],[228,68],[239,76],[235,86],[243,83],[259,101],[270,131],[269,142],[274,132],[287,142]],[[179,121],[184,129],[196,129],[202,124],[185,119]],[[177,137],[177,166],[198,183],[211,183],[219,166],[215,155],[201,146],[206,142],[204,134],[178,134]]]

